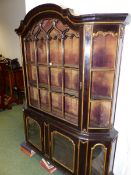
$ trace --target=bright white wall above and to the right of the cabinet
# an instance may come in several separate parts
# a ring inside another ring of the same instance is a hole
[[[130,0],[25,0],[26,13],[33,7],[44,3],[55,3],[62,7],[72,8],[79,14],[89,13],[130,13]],[[131,175],[131,24],[126,26],[122,54],[121,78],[115,128],[119,138],[114,166],[115,175]]]

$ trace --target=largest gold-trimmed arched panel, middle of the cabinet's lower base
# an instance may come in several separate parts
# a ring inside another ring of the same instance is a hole
[[[77,140],[67,133],[51,127],[51,159],[76,174]]]

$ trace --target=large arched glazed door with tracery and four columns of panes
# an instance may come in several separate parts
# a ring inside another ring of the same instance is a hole
[[[80,29],[43,19],[24,37],[29,105],[76,126],[80,113]]]

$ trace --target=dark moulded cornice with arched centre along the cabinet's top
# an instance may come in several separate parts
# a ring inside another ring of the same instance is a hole
[[[112,23],[127,23],[129,22],[129,15],[127,13],[116,13],[116,14],[88,14],[88,15],[73,15],[73,10],[67,8],[63,9],[56,4],[43,4],[35,7],[25,16],[24,20],[21,21],[20,26],[16,29],[18,35],[24,35],[28,28],[35,22],[38,22],[44,18],[58,18],[62,20],[64,24],[68,24],[72,27],[78,27],[84,23],[101,23],[101,22],[112,22]]]

